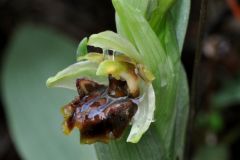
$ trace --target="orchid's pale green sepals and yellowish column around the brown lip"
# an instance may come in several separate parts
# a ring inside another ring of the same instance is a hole
[[[103,53],[87,53],[87,46],[100,47],[103,49]],[[113,54],[109,54],[109,51],[113,51]],[[137,49],[119,34],[105,31],[82,40],[77,50],[77,61],[50,77],[47,80],[47,86],[75,90],[77,89],[76,80],[79,78],[108,85],[109,76],[125,81],[129,96],[138,101],[136,114],[130,120],[132,129],[127,141],[137,143],[153,122],[155,110],[155,94],[152,87],[155,77],[141,62]],[[70,115],[69,112],[64,113],[65,117],[68,115],[66,120],[72,114],[74,113],[72,112]],[[70,132],[69,129],[66,129],[66,123],[64,123],[64,128],[65,132],[66,130],[67,133]],[[108,134],[111,132],[109,131]]]

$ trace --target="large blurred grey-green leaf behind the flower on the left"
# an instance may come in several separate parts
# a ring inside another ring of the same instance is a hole
[[[79,133],[63,134],[60,107],[76,92],[48,89],[46,79],[75,61],[75,43],[53,30],[24,25],[6,51],[2,95],[13,142],[25,160],[96,160]],[[70,54],[69,54],[70,53]]]

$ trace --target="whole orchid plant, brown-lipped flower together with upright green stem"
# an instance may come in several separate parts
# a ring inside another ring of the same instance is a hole
[[[159,147],[163,159],[183,157],[188,87],[180,57],[190,0],[112,3],[117,33],[105,31],[84,38],[77,62],[47,80],[49,87],[78,91],[78,97],[62,109],[64,131],[69,134],[76,127],[82,143],[106,143],[121,137],[131,125],[124,140],[137,144],[119,141],[95,147],[101,153],[113,149],[112,159],[125,156],[121,149],[130,149],[138,157],[145,151],[139,145],[145,144]],[[102,52],[92,52],[88,46]]]

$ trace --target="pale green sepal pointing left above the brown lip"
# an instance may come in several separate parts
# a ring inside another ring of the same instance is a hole
[[[81,61],[70,65],[47,80],[48,87],[61,87],[76,90],[76,79],[85,77],[101,84],[108,84],[106,77],[97,76],[98,64],[89,61]]]

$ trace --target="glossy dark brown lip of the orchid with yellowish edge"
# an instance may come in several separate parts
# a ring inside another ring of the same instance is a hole
[[[78,97],[62,108],[64,132],[78,128],[86,144],[119,138],[137,111],[137,97],[129,94],[127,83],[109,76],[105,86],[81,78],[76,87]]]

